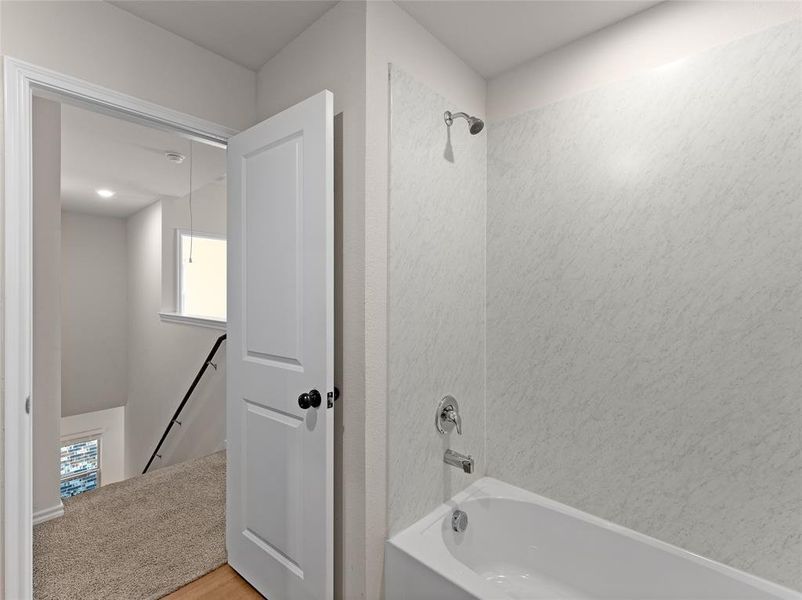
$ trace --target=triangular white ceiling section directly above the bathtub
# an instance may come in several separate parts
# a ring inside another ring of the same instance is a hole
[[[489,79],[659,2],[399,0],[398,4]]]

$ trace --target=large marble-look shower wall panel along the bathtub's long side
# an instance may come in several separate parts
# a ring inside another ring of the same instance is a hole
[[[490,125],[487,473],[802,589],[802,28]]]

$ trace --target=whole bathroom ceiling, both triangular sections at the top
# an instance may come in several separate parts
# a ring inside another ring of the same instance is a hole
[[[109,1],[252,70],[258,70],[337,4],[322,0]],[[495,77],[658,3],[398,0],[415,20],[485,78]]]

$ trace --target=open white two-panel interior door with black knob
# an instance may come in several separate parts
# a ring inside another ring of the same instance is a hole
[[[333,597],[333,135],[324,91],[228,145],[226,544],[269,600]]]

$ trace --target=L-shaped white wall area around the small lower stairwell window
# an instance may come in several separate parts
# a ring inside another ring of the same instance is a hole
[[[100,435],[100,485],[125,479],[125,407],[61,418],[61,439]]]

